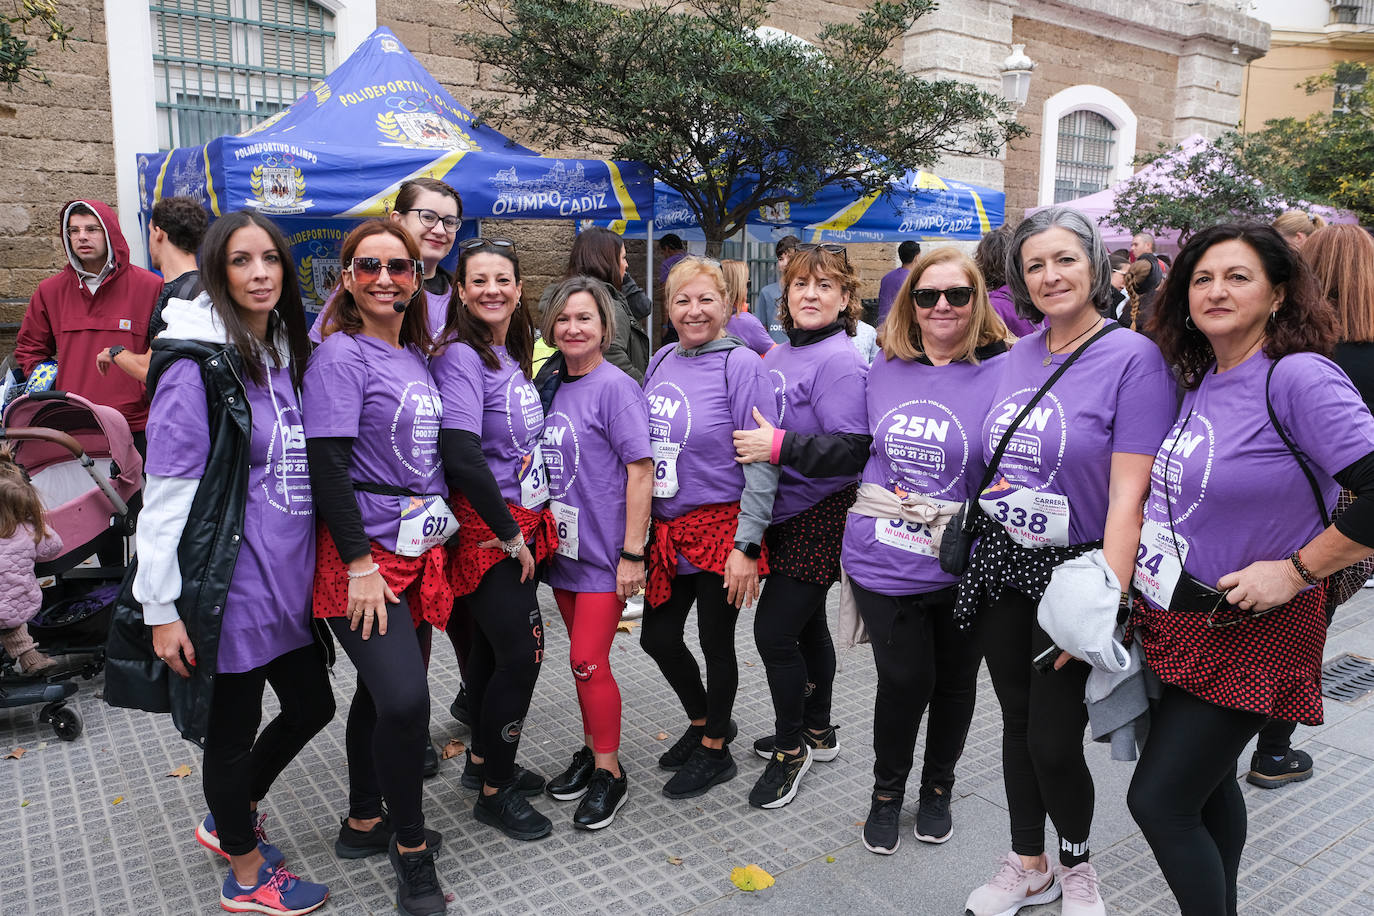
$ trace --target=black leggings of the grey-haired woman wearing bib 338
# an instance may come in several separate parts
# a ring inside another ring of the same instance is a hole
[[[1036,603],[1013,589],[980,611],[982,655],[1002,706],[1002,777],[1011,813],[1011,850],[1044,853],[1044,818],[1059,832],[1059,864],[1088,858],[1092,773],[1083,758],[1088,711],[1085,663],[1044,674],[1030,661],[1051,645],[1035,622]]]

